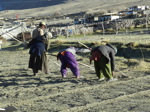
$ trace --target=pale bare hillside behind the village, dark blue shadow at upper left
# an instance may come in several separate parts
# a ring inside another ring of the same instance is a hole
[[[148,0],[0,0],[0,17],[60,15],[102,10],[122,10],[133,5],[150,5]]]

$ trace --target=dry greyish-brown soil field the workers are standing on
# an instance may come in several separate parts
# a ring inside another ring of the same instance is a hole
[[[61,78],[60,61],[54,56],[59,50],[68,45],[84,48],[78,41],[97,46],[103,40],[118,48],[117,81],[97,79],[91,69],[93,63],[89,64],[90,53],[77,53],[78,62],[91,66],[79,64],[80,79],[75,79],[70,70],[67,78]],[[29,49],[20,44],[3,46],[0,51],[0,108],[14,106],[15,112],[150,112],[149,40],[149,35],[58,38],[52,40],[47,55],[51,73],[39,72],[37,76],[28,69]],[[130,42],[136,45],[128,44]]]

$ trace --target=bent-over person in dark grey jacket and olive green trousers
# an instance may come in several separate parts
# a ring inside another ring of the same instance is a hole
[[[94,60],[96,75],[100,81],[105,79],[107,81],[117,80],[113,78],[116,53],[117,48],[108,43],[95,47],[91,51],[90,64],[91,61]]]

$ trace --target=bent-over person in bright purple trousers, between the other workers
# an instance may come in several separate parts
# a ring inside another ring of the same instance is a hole
[[[60,59],[61,61],[60,72],[63,78],[65,78],[67,75],[67,68],[70,68],[73,75],[77,79],[80,78],[79,67],[75,55],[76,55],[76,50],[74,47],[69,47],[58,53],[57,59]]]

